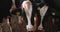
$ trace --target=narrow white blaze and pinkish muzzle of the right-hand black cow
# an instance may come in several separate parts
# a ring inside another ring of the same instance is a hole
[[[42,8],[40,8],[40,16],[41,16],[41,21],[40,21],[40,25],[38,27],[39,30],[43,29],[43,25],[42,25],[42,21],[44,19],[44,16],[47,12],[48,6],[44,5]]]

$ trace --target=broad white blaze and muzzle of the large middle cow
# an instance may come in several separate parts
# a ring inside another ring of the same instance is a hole
[[[28,24],[26,25],[27,31],[32,31],[33,25],[31,24],[31,14],[32,14],[32,3],[29,0],[23,1],[22,10],[25,11]]]

